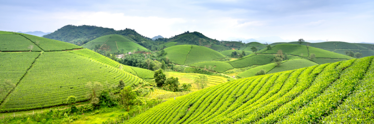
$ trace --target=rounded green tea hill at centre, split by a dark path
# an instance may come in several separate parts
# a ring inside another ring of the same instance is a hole
[[[213,61],[225,58],[224,55],[207,47],[196,45],[175,45],[164,49],[166,57],[175,64],[189,65],[204,61]]]

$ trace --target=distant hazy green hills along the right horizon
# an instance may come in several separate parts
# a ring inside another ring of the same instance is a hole
[[[277,44],[298,44],[298,42],[277,42],[270,45]],[[319,42],[319,43],[309,43],[303,42],[301,45],[309,45],[311,47],[320,48],[327,51],[332,51],[338,54],[345,54],[345,51],[350,50],[353,52],[362,53],[363,57],[368,57],[374,55],[374,45],[373,44],[359,44],[359,43],[349,43],[340,41],[329,41],[329,42]]]

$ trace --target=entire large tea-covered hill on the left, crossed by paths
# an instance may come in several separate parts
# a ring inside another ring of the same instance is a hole
[[[85,101],[87,82],[140,86],[148,84],[136,75],[153,78],[153,71],[62,41],[14,32],[0,32],[0,41],[0,112],[62,105],[71,95]]]

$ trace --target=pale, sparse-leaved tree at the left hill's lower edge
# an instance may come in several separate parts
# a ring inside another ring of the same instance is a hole
[[[98,95],[101,93],[102,84],[100,82],[88,82],[86,87],[89,89],[86,97],[91,99],[91,104],[97,105],[99,103]]]

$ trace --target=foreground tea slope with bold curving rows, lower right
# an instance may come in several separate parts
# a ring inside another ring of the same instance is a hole
[[[159,104],[125,124],[373,123],[373,57],[233,80]]]

